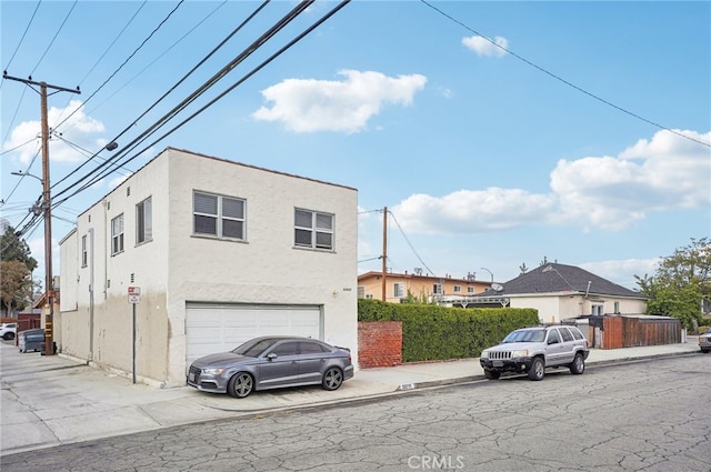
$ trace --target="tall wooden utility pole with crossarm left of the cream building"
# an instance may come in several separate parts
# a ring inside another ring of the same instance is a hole
[[[54,280],[52,275],[52,199],[49,181],[49,123],[47,117],[47,89],[57,92],[81,93],[79,87],[76,90],[64,87],[50,86],[47,82],[36,82],[32,78],[20,79],[10,77],[7,72],[3,78],[16,80],[28,86],[40,88],[40,109],[42,114],[42,213],[44,217],[44,300],[49,303],[49,312],[44,319],[44,355],[54,354]]]

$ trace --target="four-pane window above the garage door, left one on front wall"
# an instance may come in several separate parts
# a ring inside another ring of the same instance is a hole
[[[194,192],[193,232],[243,240],[244,207],[242,199]]]

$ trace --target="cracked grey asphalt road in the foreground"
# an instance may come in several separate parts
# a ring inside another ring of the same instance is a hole
[[[709,472],[708,355],[477,381],[1,458],[22,471]]]

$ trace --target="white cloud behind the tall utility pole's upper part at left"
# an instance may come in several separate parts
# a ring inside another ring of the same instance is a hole
[[[50,107],[47,112],[49,127],[52,129],[67,117],[70,117],[60,130],[62,139],[84,149],[100,149],[106,145],[106,140],[92,139],[90,135],[103,132],[103,123],[87,117],[83,109],[79,108],[81,103],[80,100],[72,100],[63,109]],[[71,114],[72,112],[73,114]],[[41,147],[41,129],[39,120],[21,122],[12,130],[2,149],[9,150],[19,147],[17,150],[19,162],[24,165],[29,164]],[[86,155],[54,137],[49,143],[49,155],[56,162],[81,162],[86,159]]]

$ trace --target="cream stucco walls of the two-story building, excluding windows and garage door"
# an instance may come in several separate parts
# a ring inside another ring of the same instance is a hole
[[[193,190],[246,199],[247,240],[193,235]],[[148,197],[152,240],[137,244],[136,205]],[[61,313],[64,352],[131,372],[128,288],[139,287],[139,378],[184,384],[188,301],[322,305],[324,340],[357,358],[357,200],[354,189],[163,151],[80,214],[76,235],[61,245],[62,289],[76,293]],[[294,208],[334,215],[333,251],[294,248]],[[124,248],[111,254],[111,220],[121,213]],[[90,231],[96,258],[81,268],[77,248]]]

